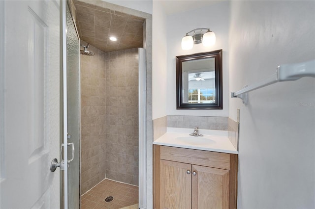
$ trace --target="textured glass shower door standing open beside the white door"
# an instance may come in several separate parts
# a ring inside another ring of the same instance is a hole
[[[68,208],[80,208],[80,41],[66,5],[66,98],[68,147]],[[73,144],[72,144],[73,143]],[[72,146],[73,145],[73,146]],[[74,149],[74,152],[73,152]]]

